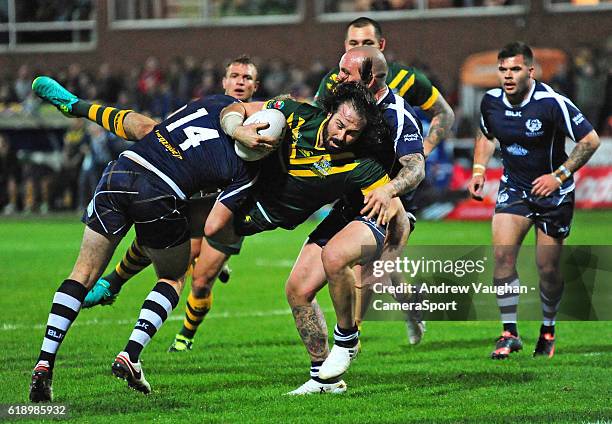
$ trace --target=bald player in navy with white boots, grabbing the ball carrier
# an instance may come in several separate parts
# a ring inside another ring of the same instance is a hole
[[[337,382],[358,349],[356,312],[359,311],[354,310],[354,297],[356,287],[362,291],[364,288],[359,286],[353,268],[368,264],[383,252],[389,258],[397,257],[410,232],[407,220],[396,219],[388,229],[381,226],[385,207],[377,220],[373,218],[380,210],[369,210],[368,205],[364,207],[374,192],[387,197],[382,202],[386,204],[413,190],[425,175],[420,122],[405,100],[387,86],[387,70],[382,52],[370,46],[355,47],[340,60],[337,81],[361,81],[374,94],[383,111],[391,129],[385,147],[390,158],[388,164],[396,168],[390,169],[395,178],[367,194],[365,199],[360,193],[346,193],[302,247],[287,281],[286,294],[298,333],[310,355],[311,378],[290,394],[337,392]],[[363,246],[377,248],[369,252]],[[315,298],[326,280],[337,318],[331,353],[325,317]],[[422,327],[418,327],[420,323],[415,324],[414,332],[422,332]]]

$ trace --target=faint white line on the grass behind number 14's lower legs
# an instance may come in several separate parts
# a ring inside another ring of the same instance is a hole
[[[175,313],[171,315],[167,321],[182,321],[185,314],[183,310],[179,311],[180,313]],[[206,319],[233,319],[233,318],[253,318],[253,317],[271,317],[278,315],[291,315],[291,309],[271,309],[268,311],[250,311],[250,312],[220,312],[214,313],[212,312],[210,315],[206,316]],[[138,317],[135,315],[134,318],[131,319],[90,319],[90,320],[79,320],[77,319],[72,327],[78,326],[87,326],[87,325],[128,325],[134,324]],[[0,331],[17,331],[17,330],[40,330],[47,326],[44,324],[7,324],[3,323],[0,326]]]

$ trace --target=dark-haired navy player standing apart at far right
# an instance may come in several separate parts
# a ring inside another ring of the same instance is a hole
[[[499,52],[502,87],[489,90],[482,99],[469,190],[473,198],[482,199],[486,165],[498,140],[504,173],[492,222],[494,284],[520,285],[516,258],[525,235],[535,225],[543,322],[533,354],[552,357],[555,317],[563,293],[559,260],[574,210],[572,175],[600,142],[576,106],[536,81],[534,72],[533,53],[524,43],[510,43]],[[576,142],[569,156],[566,137]],[[491,357],[505,359],[522,348],[516,326],[518,295],[498,295],[497,303],[503,332]]]

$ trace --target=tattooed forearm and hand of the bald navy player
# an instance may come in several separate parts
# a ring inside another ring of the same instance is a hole
[[[378,224],[386,224],[386,212],[394,197],[414,190],[425,178],[425,158],[420,153],[404,155],[399,159],[402,169],[397,176],[382,187],[369,192],[365,198],[365,206],[361,214],[368,218],[378,216]]]

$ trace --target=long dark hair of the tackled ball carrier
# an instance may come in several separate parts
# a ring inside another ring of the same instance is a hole
[[[322,99],[321,106],[325,112],[333,114],[344,103],[349,103],[366,120],[359,141],[361,147],[381,144],[389,136],[389,127],[376,104],[376,98],[365,85],[357,81],[338,84]],[[362,142],[362,139],[366,141]]]

